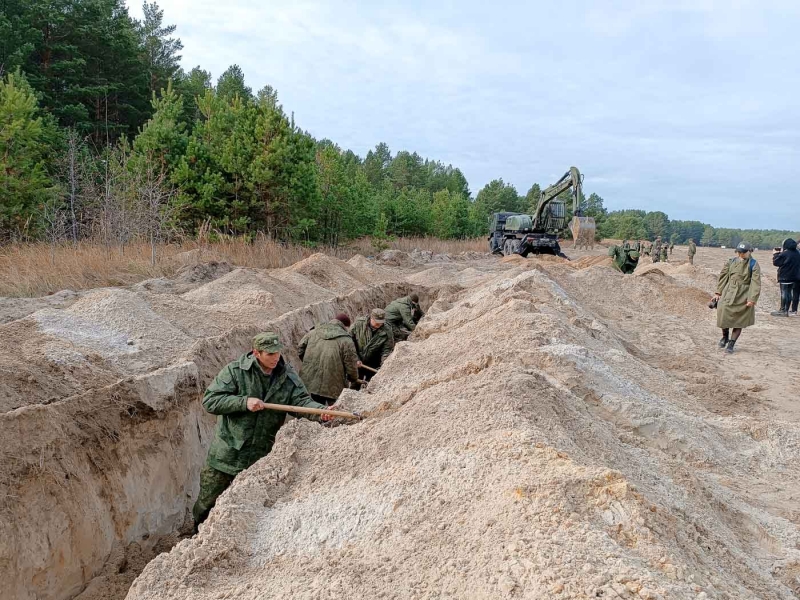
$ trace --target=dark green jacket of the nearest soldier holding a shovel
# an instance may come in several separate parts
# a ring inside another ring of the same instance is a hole
[[[226,365],[206,389],[203,408],[218,415],[208,465],[229,475],[238,474],[269,454],[286,419],[282,412],[248,411],[248,398],[326,408],[311,399],[300,377],[283,359],[271,375],[261,370],[252,352]]]

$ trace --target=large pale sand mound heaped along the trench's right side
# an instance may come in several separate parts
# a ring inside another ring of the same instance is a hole
[[[796,598],[800,499],[753,491],[798,489],[800,426],[710,413],[597,312],[674,281],[559,277],[437,301],[369,418],[284,427],[128,599]]]

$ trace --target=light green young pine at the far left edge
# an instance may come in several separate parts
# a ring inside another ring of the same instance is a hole
[[[18,236],[50,195],[48,137],[36,96],[18,72],[0,80],[0,238]]]

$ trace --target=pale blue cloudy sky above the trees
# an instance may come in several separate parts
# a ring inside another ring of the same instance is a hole
[[[128,2],[139,18],[141,5]],[[159,0],[182,65],[278,90],[318,139],[525,194],[800,230],[797,0]]]

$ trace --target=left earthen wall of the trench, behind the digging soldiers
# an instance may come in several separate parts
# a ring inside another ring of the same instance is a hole
[[[294,348],[337,312],[367,314],[411,287],[356,289],[258,329]],[[434,291],[413,288],[430,304]],[[214,426],[202,390],[258,329],[203,338],[168,367],[0,414],[0,599],[124,598],[146,563],[188,534]],[[286,357],[297,365],[293,350]]]

